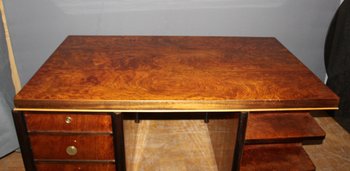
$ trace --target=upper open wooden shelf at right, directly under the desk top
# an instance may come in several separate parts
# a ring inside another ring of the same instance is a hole
[[[282,143],[322,140],[326,133],[309,112],[252,112],[246,143]]]

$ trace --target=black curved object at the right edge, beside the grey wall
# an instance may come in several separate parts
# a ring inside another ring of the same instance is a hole
[[[350,132],[350,0],[338,8],[326,37],[324,59],[327,86],[339,97],[339,110],[330,114]]]

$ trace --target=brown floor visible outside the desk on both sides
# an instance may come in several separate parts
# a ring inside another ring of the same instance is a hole
[[[350,134],[325,113],[314,113],[313,115],[327,135],[320,145],[304,146],[317,170],[350,171]],[[24,170],[21,153],[13,152],[1,158],[0,170]]]

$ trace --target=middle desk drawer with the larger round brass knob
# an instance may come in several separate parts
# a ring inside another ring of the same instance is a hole
[[[29,136],[34,159],[114,160],[112,135]]]

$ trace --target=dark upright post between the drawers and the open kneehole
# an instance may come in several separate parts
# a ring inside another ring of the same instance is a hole
[[[126,171],[123,113],[111,113],[116,169]]]

